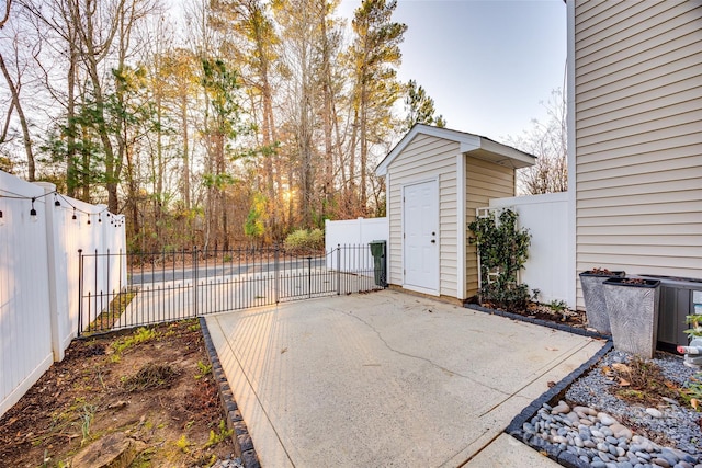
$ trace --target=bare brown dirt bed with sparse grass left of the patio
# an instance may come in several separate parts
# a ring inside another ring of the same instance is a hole
[[[81,449],[123,432],[141,467],[207,467],[234,446],[197,320],[77,340],[0,419],[7,467],[70,467]]]

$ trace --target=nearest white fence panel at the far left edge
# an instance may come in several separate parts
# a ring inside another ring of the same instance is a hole
[[[43,194],[0,172],[0,414],[54,362]]]

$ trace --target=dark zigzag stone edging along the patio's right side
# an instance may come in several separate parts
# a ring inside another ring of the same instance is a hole
[[[543,326],[543,327],[548,327],[548,328],[553,328],[553,329],[556,329],[556,330],[579,334],[579,335],[582,335],[582,336],[590,336],[590,338],[608,340],[607,344],[600,351],[595,353],[595,355],[592,355],[592,357],[590,357],[587,362],[582,363],[582,365],[580,365],[580,367],[578,367],[577,369],[573,370],[570,374],[568,374],[566,377],[564,377],[561,381],[558,381],[552,388],[550,388],[548,390],[546,390],[543,393],[541,393],[541,396],[539,398],[536,398],[534,401],[532,401],[517,416],[514,416],[514,419],[512,419],[512,421],[509,423],[507,429],[505,429],[505,433],[506,434],[511,435],[512,437],[514,437],[518,441],[526,444],[528,446],[532,447],[535,450],[546,452],[546,454],[548,454],[548,458],[555,460],[556,463],[561,464],[562,466],[565,466],[565,467],[568,467],[568,468],[588,468],[590,466],[589,464],[585,464],[581,459],[579,459],[577,456],[575,456],[574,454],[571,454],[569,452],[558,450],[556,448],[556,446],[554,446],[553,444],[547,443],[546,441],[543,441],[543,440],[541,440],[539,437],[532,437],[530,442],[526,442],[525,437],[524,437],[524,431],[523,431],[522,427],[523,427],[525,422],[530,421],[536,414],[536,412],[543,407],[544,403],[548,403],[550,401],[555,400],[556,398],[558,398],[558,396],[563,395],[565,392],[565,390],[575,380],[580,378],[580,376],[582,374],[585,374],[586,372],[590,370],[607,353],[609,353],[612,350],[613,343],[612,343],[612,340],[610,339],[610,336],[603,335],[601,333],[584,330],[584,329],[578,329],[578,328],[564,326],[564,324],[561,324],[561,323],[550,322],[548,320],[532,319],[532,318],[529,318],[529,317],[520,316],[519,313],[510,313],[510,312],[503,312],[501,310],[492,310],[492,309],[488,309],[486,307],[476,306],[476,305],[473,305],[473,304],[466,305],[465,307],[468,308],[468,309],[478,310],[478,311],[482,311],[482,312],[491,313],[491,315],[496,315],[496,316],[500,316],[500,317],[506,317],[506,318],[510,318],[510,319],[513,319],[513,320],[521,320],[521,321],[524,321],[524,322],[534,323],[534,324],[539,324],[539,326]],[[533,444],[532,442],[536,442],[537,444]],[[541,444],[539,444],[539,442],[541,442]]]

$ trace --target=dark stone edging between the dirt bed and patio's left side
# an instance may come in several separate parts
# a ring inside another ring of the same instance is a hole
[[[210,329],[207,328],[207,322],[204,317],[200,318],[200,329],[202,330],[202,336],[205,341],[205,350],[207,350],[207,355],[210,356],[212,375],[217,384],[219,399],[222,400],[222,406],[227,413],[227,426],[229,430],[233,430],[236,435],[236,437],[231,437],[231,441],[234,442],[234,453],[237,457],[241,458],[241,464],[246,468],[260,468],[261,464],[259,463],[259,457],[256,453],[256,448],[253,447],[253,442],[249,435],[249,430],[241,418],[237,402],[234,400],[234,393],[229,388],[229,383],[227,381],[227,377],[222,368],[217,350],[212,342]]]

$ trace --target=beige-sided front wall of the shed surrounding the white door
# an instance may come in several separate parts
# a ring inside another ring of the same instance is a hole
[[[401,285],[403,185],[439,179],[440,294],[456,296],[456,155],[458,144],[428,135],[417,137],[388,167],[389,272],[388,282]]]

